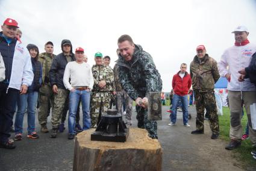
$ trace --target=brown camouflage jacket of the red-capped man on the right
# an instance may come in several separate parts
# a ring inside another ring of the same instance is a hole
[[[211,90],[220,78],[217,62],[205,54],[200,62],[195,56],[190,63],[190,76],[192,78],[193,90]]]

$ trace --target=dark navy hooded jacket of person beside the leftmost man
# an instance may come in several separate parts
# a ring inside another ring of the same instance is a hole
[[[28,44],[27,49],[37,49],[37,56],[35,58],[31,58],[31,63],[33,67],[34,79],[30,87],[28,87],[28,92],[39,92],[39,88],[42,85],[42,64],[38,61],[39,58],[39,49],[34,44]]]

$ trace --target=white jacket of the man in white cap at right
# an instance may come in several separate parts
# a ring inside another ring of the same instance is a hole
[[[232,46],[223,53],[218,63],[219,73],[225,77],[227,73],[231,74],[231,80],[228,82],[228,90],[231,91],[255,91],[255,85],[249,79],[239,82],[239,70],[248,67],[252,54],[256,52],[256,46],[248,43],[245,46]]]

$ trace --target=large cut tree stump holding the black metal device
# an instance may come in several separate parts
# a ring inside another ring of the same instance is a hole
[[[161,170],[161,145],[145,129],[130,128],[125,143],[91,141],[93,131],[76,135],[73,170]]]

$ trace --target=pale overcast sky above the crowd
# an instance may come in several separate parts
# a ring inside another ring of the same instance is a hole
[[[171,89],[172,76],[181,63],[190,64],[196,46],[205,45],[217,61],[234,45],[231,32],[237,25],[249,30],[249,41],[256,44],[256,1],[70,1],[0,0],[0,23],[17,20],[22,42],[34,43],[44,52],[44,44],[54,43],[54,54],[61,52],[63,39],[81,46],[94,64],[95,52],[117,60],[117,39],[129,34],[134,43],[154,58],[163,79],[163,90]]]

